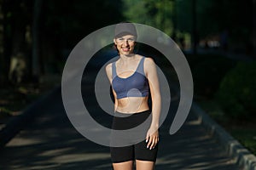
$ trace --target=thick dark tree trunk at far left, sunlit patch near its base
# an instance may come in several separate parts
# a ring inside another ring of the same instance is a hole
[[[23,4],[24,6],[22,6]],[[7,12],[11,15],[8,18],[8,39],[11,40],[11,48],[9,54],[9,80],[14,84],[23,81],[26,77],[27,70],[27,54],[26,54],[26,15],[29,12],[26,10],[26,3],[22,1],[7,1]],[[8,52],[8,51],[7,51]]]

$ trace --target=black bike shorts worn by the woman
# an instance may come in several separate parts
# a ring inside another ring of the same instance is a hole
[[[148,117],[149,116],[149,117]],[[131,129],[132,127],[137,127],[141,123],[145,122],[145,120],[149,118],[151,120],[151,111],[142,111],[134,114],[127,115],[126,113],[116,112],[113,117],[112,129],[115,130],[125,130]],[[151,121],[149,121],[151,122]],[[149,150],[147,148],[146,143],[146,134],[148,131],[150,124],[148,127],[146,126],[143,129],[144,139],[143,141],[138,141],[134,143],[131,141],[131,145],[121,146],[121,147],[110,147],[110,153],[113,163],[123,162],[123,161],[155,161],[158,151],[158,144],[155,145],[154,149]],[[134,132],[132,136],[137,135],[137,132]],[[116,140],[119,136],[114,136],[112,140]],[[124,138],[124,137],[122,137]],[[125,135],[125,141],[129,140],[129,135]]]

